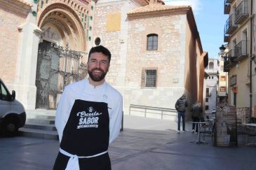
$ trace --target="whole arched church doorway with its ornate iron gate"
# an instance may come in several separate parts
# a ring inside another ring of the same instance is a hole
[[[63,8],[65,7],[65,8]],[[85,32],[69,6],[53,3],[39,16],[43,31],[36,65],[36,108],[55,109],[69,83],[86,76]]]

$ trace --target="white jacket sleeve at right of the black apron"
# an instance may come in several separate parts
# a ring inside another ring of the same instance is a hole
[[[109,144],[116,139],[121,129],[123,117],[123,97],[119,97],[119,100],[112,109],[113,113],[111,118],[109,118]]]

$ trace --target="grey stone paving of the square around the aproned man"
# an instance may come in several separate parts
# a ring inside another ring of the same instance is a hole
[[[186,129],[191,129],[187,124]],[[125,115],[124,129],[109,147],[113,170],[256,169],[256,147],[191,143],[196,134],[176,133],[176,122]],[[0,169],[52,169],[58,141],[0,137]]]

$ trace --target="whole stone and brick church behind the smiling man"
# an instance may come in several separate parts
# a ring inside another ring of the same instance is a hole
[[[203,101],[203,52],[190,6],[160,0],[0,0],[0,78],[28,110],[55,109],[86,75],[88,50],[112,52],[107,82],[131,104]]]

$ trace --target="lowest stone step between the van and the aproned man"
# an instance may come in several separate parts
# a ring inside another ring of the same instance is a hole
[[[21,136],[28,136],[28,137],[39,138],[39,139],[52,139],[57,141],[59,140],[57,131],[29,129],[29,128],[21,127],[19,129],[19,133]]]

